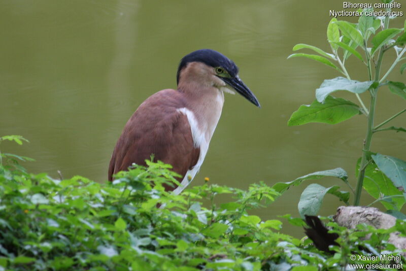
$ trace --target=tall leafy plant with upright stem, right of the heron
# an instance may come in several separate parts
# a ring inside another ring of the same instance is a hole
[[[392,2],[383,1],[383,3]],[[385,127],[391,120],[406,112],[406,108],[378,125],[374,123],[379,89],[388,87],[391,93],[406,99],[406,85],[402,82],[387,80],[394,67],[406,59],[404,57],[406,52],[406,21],[404,28],[389,28],[392,17],[367,16],[371,14],[371,11],[373,10],[362,10],[362,16],[359,17],[358,23],[350,23],[336,18],[331,19],[327,27],[327,40],[330,44],[331,53],[312,45],[297,44],[293,47],[293,51],[309,49],[317,54],[294,53],[288,57],[307,57],[332,67],[342,74],[341,77],[324,80],[316,89],[316,99],[313,103],[300,106],[290,117],[288,125],[302,125],[310,122],[336,124],[356,115],[364,115],[367,127],[364,144],[361,146],[361,158],[356,167],[356,188],[353,189],[347,181],[347,173],[342,168],[336,168],[321,172],[321,174],[320,172],[309,174],[290,183],[278,183],[274,185],[277,191],[282,192],[286,187],[297,185],[304,179],[334,176],[343,180],[350,187],[354,194],[354,205],[359,205],[362,187],[377,201],[383,201],[383,205],[388,210],[400,211],[406,202],[406,195],[403,192],[406,188],[406,162],[370,151],[375,133],[386,130],[406,131],[404,127]],[[390,11],[390,9],[386,11]],[[382,63],[389,52],[394,53],[395,59],[382,75]],[[350,76],[346,68],[346,60],[350,56],[358,58],[365,64],[368,74],[366,79],[358,81]],[[406,63],[400,66],[400,73],[404,69],[406,69]],[[333,97],[333,92],[339,90],[353,93],[358,104],[344,98]],[[359,95],[363,92],[368,92],[370,96],[368,108]],[[326,193],[334,194],[349,204],[349,195],[346,192],[337,191],[337,188],[336,186],[325,188],[320,185],[309,185],[300,197],[300,215],[315,215],[319,211]]]

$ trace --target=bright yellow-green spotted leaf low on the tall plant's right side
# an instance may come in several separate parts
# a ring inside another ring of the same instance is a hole
[[[361,158],[358,159],[356,176],[359,174],[359,165],[361,163]],[[383,196],[391,195],[401,195],[402,192],[397,189],[392,181],[378,168],[376,163],[369,163],[365,168],[365,178],[362,183],[363,188],[368,192],[369,195],[373,196],[375,199],[378,199]],[[402,197],[392,198],[393,204],[381,201],[381,204],[385,206],[387,210],[396,208],[395,210],[401,210],[402,206],[405,203],[405,199]]]

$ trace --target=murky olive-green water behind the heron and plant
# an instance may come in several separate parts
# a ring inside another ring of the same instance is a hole
[[[287,126],[293,111],[313,101],[321,82],[338,74],[308,59],[286,57],[297,43],[328,50],[329,10],[342,10],[340,1],[3,0],[1,6],[0,134],[30,140],[16,147],[5,143],[2,149],[35,158],[25,164],[32,172],[57,177],[59,170],[65,178],[105,182],[116,140],[134,110],[152,93],[176,88],[177,65],[185,54],[212,48],[239,65],[240,77],[262,108],[226,95],[193,184],[210,177],[212,183],[247,188],[335,167],[343,167],[355,182],[365,117],[338,125]],[[402,27],[403,21],[393,26]],[[353,79],[366,80],[357,59],[349,64]],[[389,79],[405,81],[405,76],[397,70]],[[381,92],[377,123],[405,106],[389,90]],[[336,95],[356,102],[349,94]],[[361,96],[368,103],[368,94]],[[405,122],[406,115],[392,124]],[[404,133],[376,134],[373,150],[406,159]],[[256,213],[264,219],[297,216],[304,187]],[[321,213],[333,214],[339,205],[327,197]]]

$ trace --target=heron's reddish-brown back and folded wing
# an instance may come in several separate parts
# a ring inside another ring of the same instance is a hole
[[[187,116],[178,110],[185,105],[184,94],[174,89],[161,90],[146,99],[127,121],[117,141],[110,160],[109,180],[132,163],[145,165],[151,154],[185,176],[199,157]]]

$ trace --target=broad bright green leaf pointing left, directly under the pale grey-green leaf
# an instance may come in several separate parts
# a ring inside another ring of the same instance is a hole
[[[335,124],[357,114],[361,114],[361,109],[356,104],[343,98],[327,96],[324,104],[314,100],[311,105],[301,105],[293,112],[288,125],[302,125],[309,122]]]

